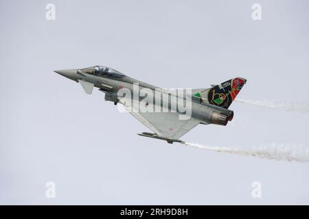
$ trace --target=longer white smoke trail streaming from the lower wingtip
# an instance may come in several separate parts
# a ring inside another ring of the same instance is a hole
[[[253,156],[265,159],[309,162],[309,147],[304,144],[261,144],[249,149],[237,149],[231,147],[207,146],[190,142],[181,142],[187,146],[193,146],[198,149],[208,151],[217,151],[221,153],[234,153],[238,155]]]

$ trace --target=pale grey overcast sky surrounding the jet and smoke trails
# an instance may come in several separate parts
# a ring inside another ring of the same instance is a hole
[[[45,5],[56,5],[47,21]],[[262,5],[253,21],[251,5]],[[1,204],[309,204],[309,164],[194,149],[54,69],[104,65],[163,88],[239,76],[242,99],[308,102],[308,1],[0,1]],[[183,140],[309,145],[308,114],[232,103]],[[56,183],[56,198],[45,183]],[[251,183],[262,183],[252,198]]]

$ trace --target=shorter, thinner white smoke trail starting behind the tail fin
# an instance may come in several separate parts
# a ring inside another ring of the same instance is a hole
[[[281,101],[253,101],[253,100],[244,100],[244,99],[236,99],[240,103],[248,103],[251,105],[257,105],[259,107],[266,107],[269,109],[279,109],[300,113],[309,113],[309,103],[304,103],[301,101],[293,101],[293,102],[281,102]]]

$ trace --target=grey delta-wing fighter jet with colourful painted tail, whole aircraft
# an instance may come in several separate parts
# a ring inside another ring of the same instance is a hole
[[[242,77],[236,77],[218,85],[211,85],[210,88],[187,89],[189,92],[180,94],[133,79],[106,66],[54,70],[54,72],[80,83],[87,94],[91,94],[94,87],[99,88],[104,92],[106,101],[112,101],[115,105],[121,103],[139,122],[153,131],[153,133],[138,133],[139,136],[166,140],[170,144],[182,142],[179,138],[198,124],[227,125],[233,119],[233,111],[228,108],[247,82]],[[150,97],[148,94],[133,98],[136,90],[141,92],[145,89],[154,92],[155,97]],[[126,92],[121,92],[123,90]],[[133,95],[128,94],[128,91],[133,92]],[[158,95],[160,98],[157,98]],[[162,96],[168,98],[164,99]],[[155,101],[157,99],[160,101]],[[177,103],[179,100],[183,101],[187,109],[190,107],[189,116],[185,116],[186,112],[181,111],[179,105],[176,110],[170,110],[176,103],[175,99]],[[140,110],[140,106],[152,110]],[[154,108],[159,111],[153,110]],[[184,117],[181,118],[181,115]]]

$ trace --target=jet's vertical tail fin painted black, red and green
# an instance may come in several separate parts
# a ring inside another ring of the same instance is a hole
[[[203,102],[208,102],[212,105],[218,105],[219,107],[227,109],[246,82],[246,79],[236,77],[207,90],[196,92],[194,96],[201,98]]]

